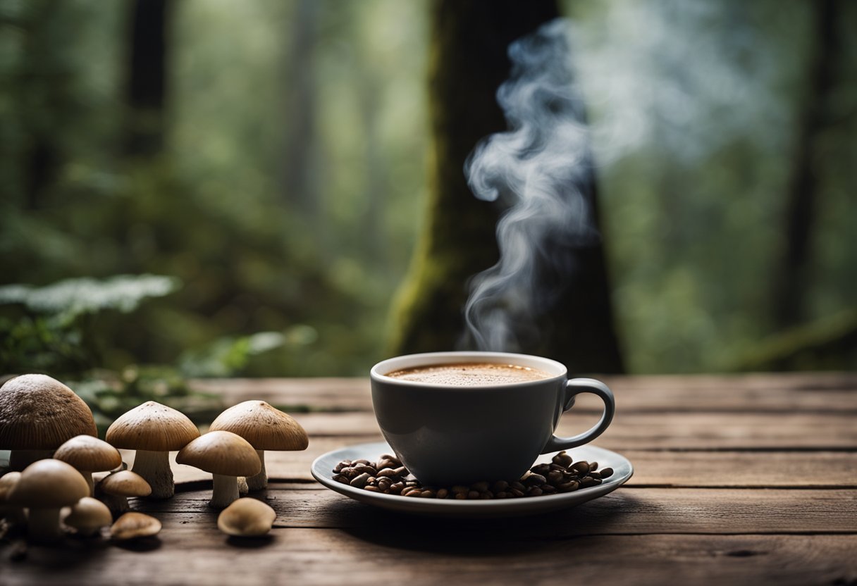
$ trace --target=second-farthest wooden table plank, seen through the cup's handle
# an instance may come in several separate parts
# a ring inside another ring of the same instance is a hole
[[[296,415],[310,438],[364,436],[370,441],[380,430],[368,412]],[[569,413],[559,434],[583,431],[595,416]],[[610,428],[596,440],[611,450],[668,449],[857,449],[857,426],[848,414],[758,413],[627,413],[620,411]]]

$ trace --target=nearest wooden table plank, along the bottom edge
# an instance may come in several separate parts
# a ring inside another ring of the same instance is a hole
[[[213,519],[194,529],[165,519],[159,539],[30,547],[10,563],[4,586],[109,584],[485,583],[602,586],[705,583],[848,584],[857,575],[855,535],[579,535],[533,540],[494,529],[458,534],[393,533],[375,524],[347,531],[274,529],[267,540],[234,541]]]

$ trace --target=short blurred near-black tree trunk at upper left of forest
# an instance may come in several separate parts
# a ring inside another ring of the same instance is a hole
[[[169,0],[135,0],[131,10],[125,152],[132,156],[151,156],[164,147],[171,8]]]

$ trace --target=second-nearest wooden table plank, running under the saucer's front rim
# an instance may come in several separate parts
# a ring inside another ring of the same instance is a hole
[[[194,487],[195,488],[195,487]],[[193,519],[212,514],[208,489],[169,501],[140,502],[156,517]],[[857,533],[857,490],[621,487],[601,499],[537,517],[496,520],[416,517],[382,511],[315,485],[275,483],[266,494],[284,527],[356,529],[377,525],[394,534],[458,533],[493,528],[500,535],[557,538],[613,534]],[[405,498],[405,497],[402,497]]]

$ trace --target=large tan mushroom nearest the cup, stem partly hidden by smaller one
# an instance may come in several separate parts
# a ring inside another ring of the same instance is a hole
[[[244,401],[230,407],[217,416],[210,429],[240,435],[259,454],[262,469],[247,479],[250,490],[267,487],[265,450],[306,450],[309,445],[309,437],[301,424],[265,401]]]

